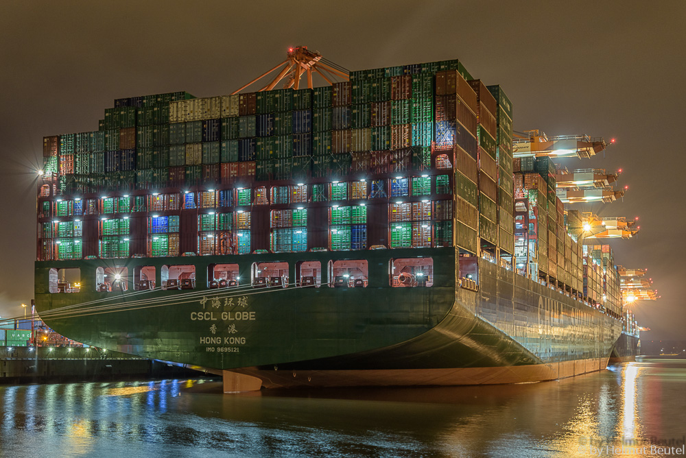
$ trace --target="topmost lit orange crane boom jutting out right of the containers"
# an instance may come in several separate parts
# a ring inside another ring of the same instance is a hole
[[[523,156],[590,158],[607,147],[604,138],[591,138],[585,134],[548,137],[539,130],[525,130],[521,133],[515,133],[514,137],[512,139],[512,152],[515,158]]]

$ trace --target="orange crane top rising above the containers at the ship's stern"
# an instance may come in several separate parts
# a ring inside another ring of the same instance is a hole
[[[283,67],[282,67],[283,66]],[[324,78],[329,84],[333,84],[335,80],[348,81],[350,79],[349,72],[338,64],[326,60],[318,52],[309,51],[307,46],[298,46],[294,48],[289,48],[286,60],[276,65],[272,69],[265,71],[259,75],[255,80],[252,80],[245,86],[234,91],[232,94],[237,94],[243,91],[248,86],[255,84],[263,77],[267,77],[270,73],[281,68],[279,73],[276,73],[276,77],[272,78],[268,84],[263,86],[260,91],[271,91],[276,87],[277,84],[284,78],[287,78],[283,83],[283,88],[300,88],[300,78],[303,75],[307,75],[307,87],[312,89],[312,77],[316,73],[320,77]]]

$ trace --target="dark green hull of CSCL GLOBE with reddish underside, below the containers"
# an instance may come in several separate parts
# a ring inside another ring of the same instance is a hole
[[[392,287],[390,259],[416,256],[433,259],[433,285]],[[331,287],[322,269],[321,287],[205,286],[216,263],[237,263],[250,278],[252,263],[285,261],[295,278],[298,261],[338,259],[366,259],[368,285]],[[76,341],[248,374],[265,387],[517,383],[606,366],[620,320],[472,259],[477,286],[460,278],[453,248],[37,262],[36,309]],[[97,292],[88,275],[178,264],[196,266],[196,289]],[[50,293],[51,269],[67,267],[80,269],[80,292]]]

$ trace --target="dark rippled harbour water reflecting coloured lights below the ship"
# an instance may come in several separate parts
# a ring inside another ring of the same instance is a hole
[[[683,454],[686,434],[683,360],[495,387],[216,387],[2,386],[0,457],[647,457],[670,439]]]

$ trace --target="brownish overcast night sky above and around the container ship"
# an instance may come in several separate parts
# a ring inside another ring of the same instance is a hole
[[[248,3],[248,2],[246,2]],[[226,95],[307,45],[349,70],[458,58],[501,84],[514,130],[617,138],[571,168],[623,169],[640,217],[615,263],[662,296],[633,307],[643,339],[686,339],[686,2],[4,1],[0,6],[0,315],[33,297],[43,136],[97,130],[113,99]],[[572,206],[571,208],[580,208]]]

